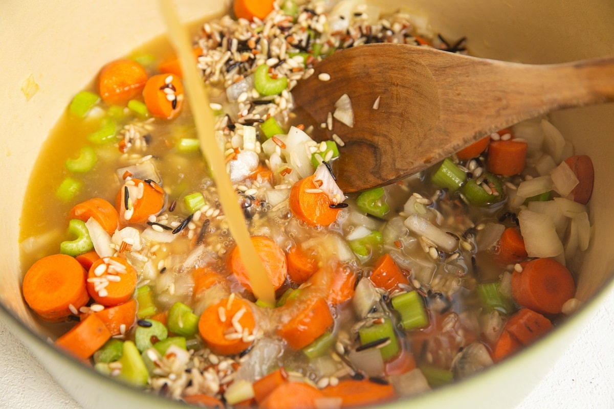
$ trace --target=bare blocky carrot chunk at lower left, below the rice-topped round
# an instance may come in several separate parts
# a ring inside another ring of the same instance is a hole
[[[55,341],[55,345],[79,359],[88,359],[111,338],[111,331],[90,314]]]

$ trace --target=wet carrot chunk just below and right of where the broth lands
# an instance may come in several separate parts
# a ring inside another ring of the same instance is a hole
[[[333,316],[324,298],[309,297],[293,299],[290,303],[300,303],[300,308],[287,323],[278,328],[278,334],[295,350],[314,342],[333,324]]]

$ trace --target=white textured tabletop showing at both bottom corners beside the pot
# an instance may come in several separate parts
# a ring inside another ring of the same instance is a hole
[[[614,292],[518,409],[614,408]],[[0,321],[0,408],[82,409]]]

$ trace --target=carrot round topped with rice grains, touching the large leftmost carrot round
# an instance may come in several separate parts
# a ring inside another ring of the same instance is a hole
[[[87,291],[98,304],[112,307],[133,296],[136,280],[136,270],[126,259],[103,257],[90,267]]]

